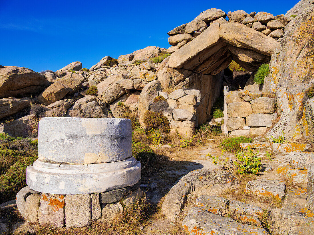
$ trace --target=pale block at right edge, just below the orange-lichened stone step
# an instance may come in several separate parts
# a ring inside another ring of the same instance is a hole
[[[290,152],[289,163],[295,169],[307,170],[314,164],[314,153]]]

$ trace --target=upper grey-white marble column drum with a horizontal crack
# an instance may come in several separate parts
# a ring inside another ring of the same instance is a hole
[[[131,156],[131,120],[122,118],[41,118],[38,159],[91,164]]]

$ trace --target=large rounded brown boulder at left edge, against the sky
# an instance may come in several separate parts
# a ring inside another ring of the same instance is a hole
[[[50,82],[28,68],[0,67],[0,98],[24,97],[44,90]]]

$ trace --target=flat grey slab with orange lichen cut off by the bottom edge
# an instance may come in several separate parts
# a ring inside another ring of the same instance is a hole
[[[206,210],[192,208],[182,221],[184,230],[191,235],[211,234],[242,234],[267,235],[268,232],[261,227],[242,224],[231,218],[215,215]]]

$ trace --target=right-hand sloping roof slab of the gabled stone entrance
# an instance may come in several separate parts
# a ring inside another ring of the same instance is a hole
[[[251,49],[263,55],[272,55],[280,50],[280,43],[275,39],[260,34],[243,24],[221,24],[219,35],[226,43],[236,47]]]

